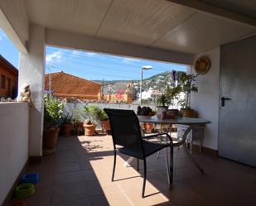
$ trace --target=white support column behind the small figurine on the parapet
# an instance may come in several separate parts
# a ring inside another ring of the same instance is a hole
[[[33,106],[29,115],[29,156],[41,156],[44,87],[45,87],[45,40],[43,26],[30,25],[28,53],[20,53],[19,93],[23,84],[31,85]]]

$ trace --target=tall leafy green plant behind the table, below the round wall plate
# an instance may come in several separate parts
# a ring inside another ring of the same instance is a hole
[[[189,108],[191,104],[191,92],[197,93],[198,87],[195,84],[198,74],[186,74],[181,73],[179,83],[181,85],[181,91],[186,93],[185,108]]]

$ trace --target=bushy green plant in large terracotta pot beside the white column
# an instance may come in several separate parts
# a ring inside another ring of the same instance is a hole
[[[45,97],[43,148],[53,150],[60,131],[65,103],[52,96]]]

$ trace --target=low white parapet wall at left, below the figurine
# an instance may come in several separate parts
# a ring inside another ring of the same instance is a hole
[[[0,103],[0,205],[28,158],[27,103]]]

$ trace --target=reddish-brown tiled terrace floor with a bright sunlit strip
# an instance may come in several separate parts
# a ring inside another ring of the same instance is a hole
[[[174,185],[169,189],[165,151],[147,159],[147,198],[141,198],[142,162],[124,166],[128,156],[119,155],[115,181],[111,181],[113,144],[109,136],[60,137],[56,153],[44,156],[40,165],[27,172],[38,172],[36,194],[27,206],[104,206],[104,205],[256,205],[256,170],[246,165],[196,153],[205,169],[200,174],[180,148],[174,154]]]

